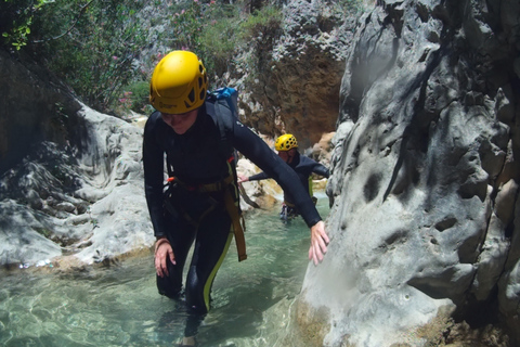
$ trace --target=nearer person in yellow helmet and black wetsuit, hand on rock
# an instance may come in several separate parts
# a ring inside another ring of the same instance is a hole
[[[329,242],[296,172],[240,121],[224,121],[227,115],[207,98],[207,89],[206,69],[196,54],[173,51],[166,55],[152,76],[150,101],[156,111],[148,117],[143,137],[144,185],[156,236],[159,294],[180,298],[184,264],[195,243],[184,290],[188,318],[181,346],[196,344],[198,326],[210,308],[213,279],[233,235],[239,260],[246,258],[236,172],[230,163],[231,151],[223,143],[291,192],[311,230],[309,259],[315,265],[323,260]]]

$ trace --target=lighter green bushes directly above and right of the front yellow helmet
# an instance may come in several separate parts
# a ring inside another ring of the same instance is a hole
[[[265,5],[247,14],[244,8],[223,0],[181,1],[168,11],[170,30],[165,30],[159,40],[169,42],[172,49],[196,52],[210,75],[217,76],[229,70],[238,48],[270,49],[283,21],[278,7]]]

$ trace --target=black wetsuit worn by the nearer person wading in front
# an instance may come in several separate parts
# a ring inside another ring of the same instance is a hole
[[[186,190],[179,197],[183,210],[168,211],[164,204],[165,154],[174,176],[187,185],[222,180],[229,172],[229,165],[222,153],[223,140],[217,118],[214,105],[207,101],[199,108],[195,124],[184,134],[177,134],[162,121],[159,112],[150,116],[144,129],[145,193],[154,233],[156,237],[166,236],[169,240],[177,262],[172,265],[168,260],[169,277],[157,277],[160,294],[179,297],[184,264],[195,241],[185,285],[187,308],[194,314],[188,319],[185,336],[195,335],[202,318],[209,310],[211,285],[233,239],[232,220],[219,193],[200,194]],[[225,133],[234,149],[269,172],[284,190],[292,193],[294,202],[309,227],[321,220],[296,172],[263,140],[239,121],[233,121],[232,128],[226,129]],[[207,214],[196,228],[186,221],[185,213],[193,213],[192,217],[200,215],[204,209],[200,206],[207,203],[209,195],[218,207]]]

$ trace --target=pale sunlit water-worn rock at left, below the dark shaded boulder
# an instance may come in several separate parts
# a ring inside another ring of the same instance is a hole
[[[155,241],[144,198],[142,130],[84,105],[75,117],[68,151],[43,142],[47,152],[27,156],[0,181],[2,264],[82,266]]]

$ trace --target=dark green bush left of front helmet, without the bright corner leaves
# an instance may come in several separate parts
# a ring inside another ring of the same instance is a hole
[[[100,111],[107,111],[123,85],[136,74],[132,66],[145,44],[144,28],[134,14],[141,9],[135,1],[98,0],[76,17],[70,13],[81,2],[56,0],[40,17],[46,33],[67,33],[44,47],[52,70],[67,80],[83,102]],[[83,4],[84,5],[84,4]],[[56,18],[65,18],[56,23]]]

